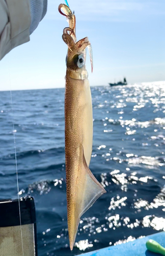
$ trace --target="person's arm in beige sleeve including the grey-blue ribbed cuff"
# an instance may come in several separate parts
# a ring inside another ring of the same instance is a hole
[[[0,60],[30,40],[47,11],[47,0],[0,0]]]

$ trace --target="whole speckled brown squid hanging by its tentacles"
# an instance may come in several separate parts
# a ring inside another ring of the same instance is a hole
[[[69,27],[62,38],[68,46],[65,83],[65,161],[67,219],[70,249],[73,250],[81,215],[106,191],[89,169],[92,154],[92,98],[86,70],[86,48],[93,70],[92,47],[88,37],[76,40],[75,15],[65,4],[59,12]]]

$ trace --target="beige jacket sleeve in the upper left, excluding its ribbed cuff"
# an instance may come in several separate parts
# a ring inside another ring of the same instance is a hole
[[[0,59],[30,40],[29,0],[0,0]]]

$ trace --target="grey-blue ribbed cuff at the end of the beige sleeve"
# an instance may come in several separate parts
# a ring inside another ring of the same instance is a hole
[[[32,19],[30,34],[32,34],[46,14],[47,0],[30,0],[30,9]]]

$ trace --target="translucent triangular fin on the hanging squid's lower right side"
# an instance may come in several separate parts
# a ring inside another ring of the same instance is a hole
[[[69,236],[71,250],[73,249],[81,215],[84,214],[102,194],[106,193],[103,186],[91,173],[85,159],[82,145],[80,145],[79,175],[77,177],[76,186],[74,231],[72,233],[73,236]]]

